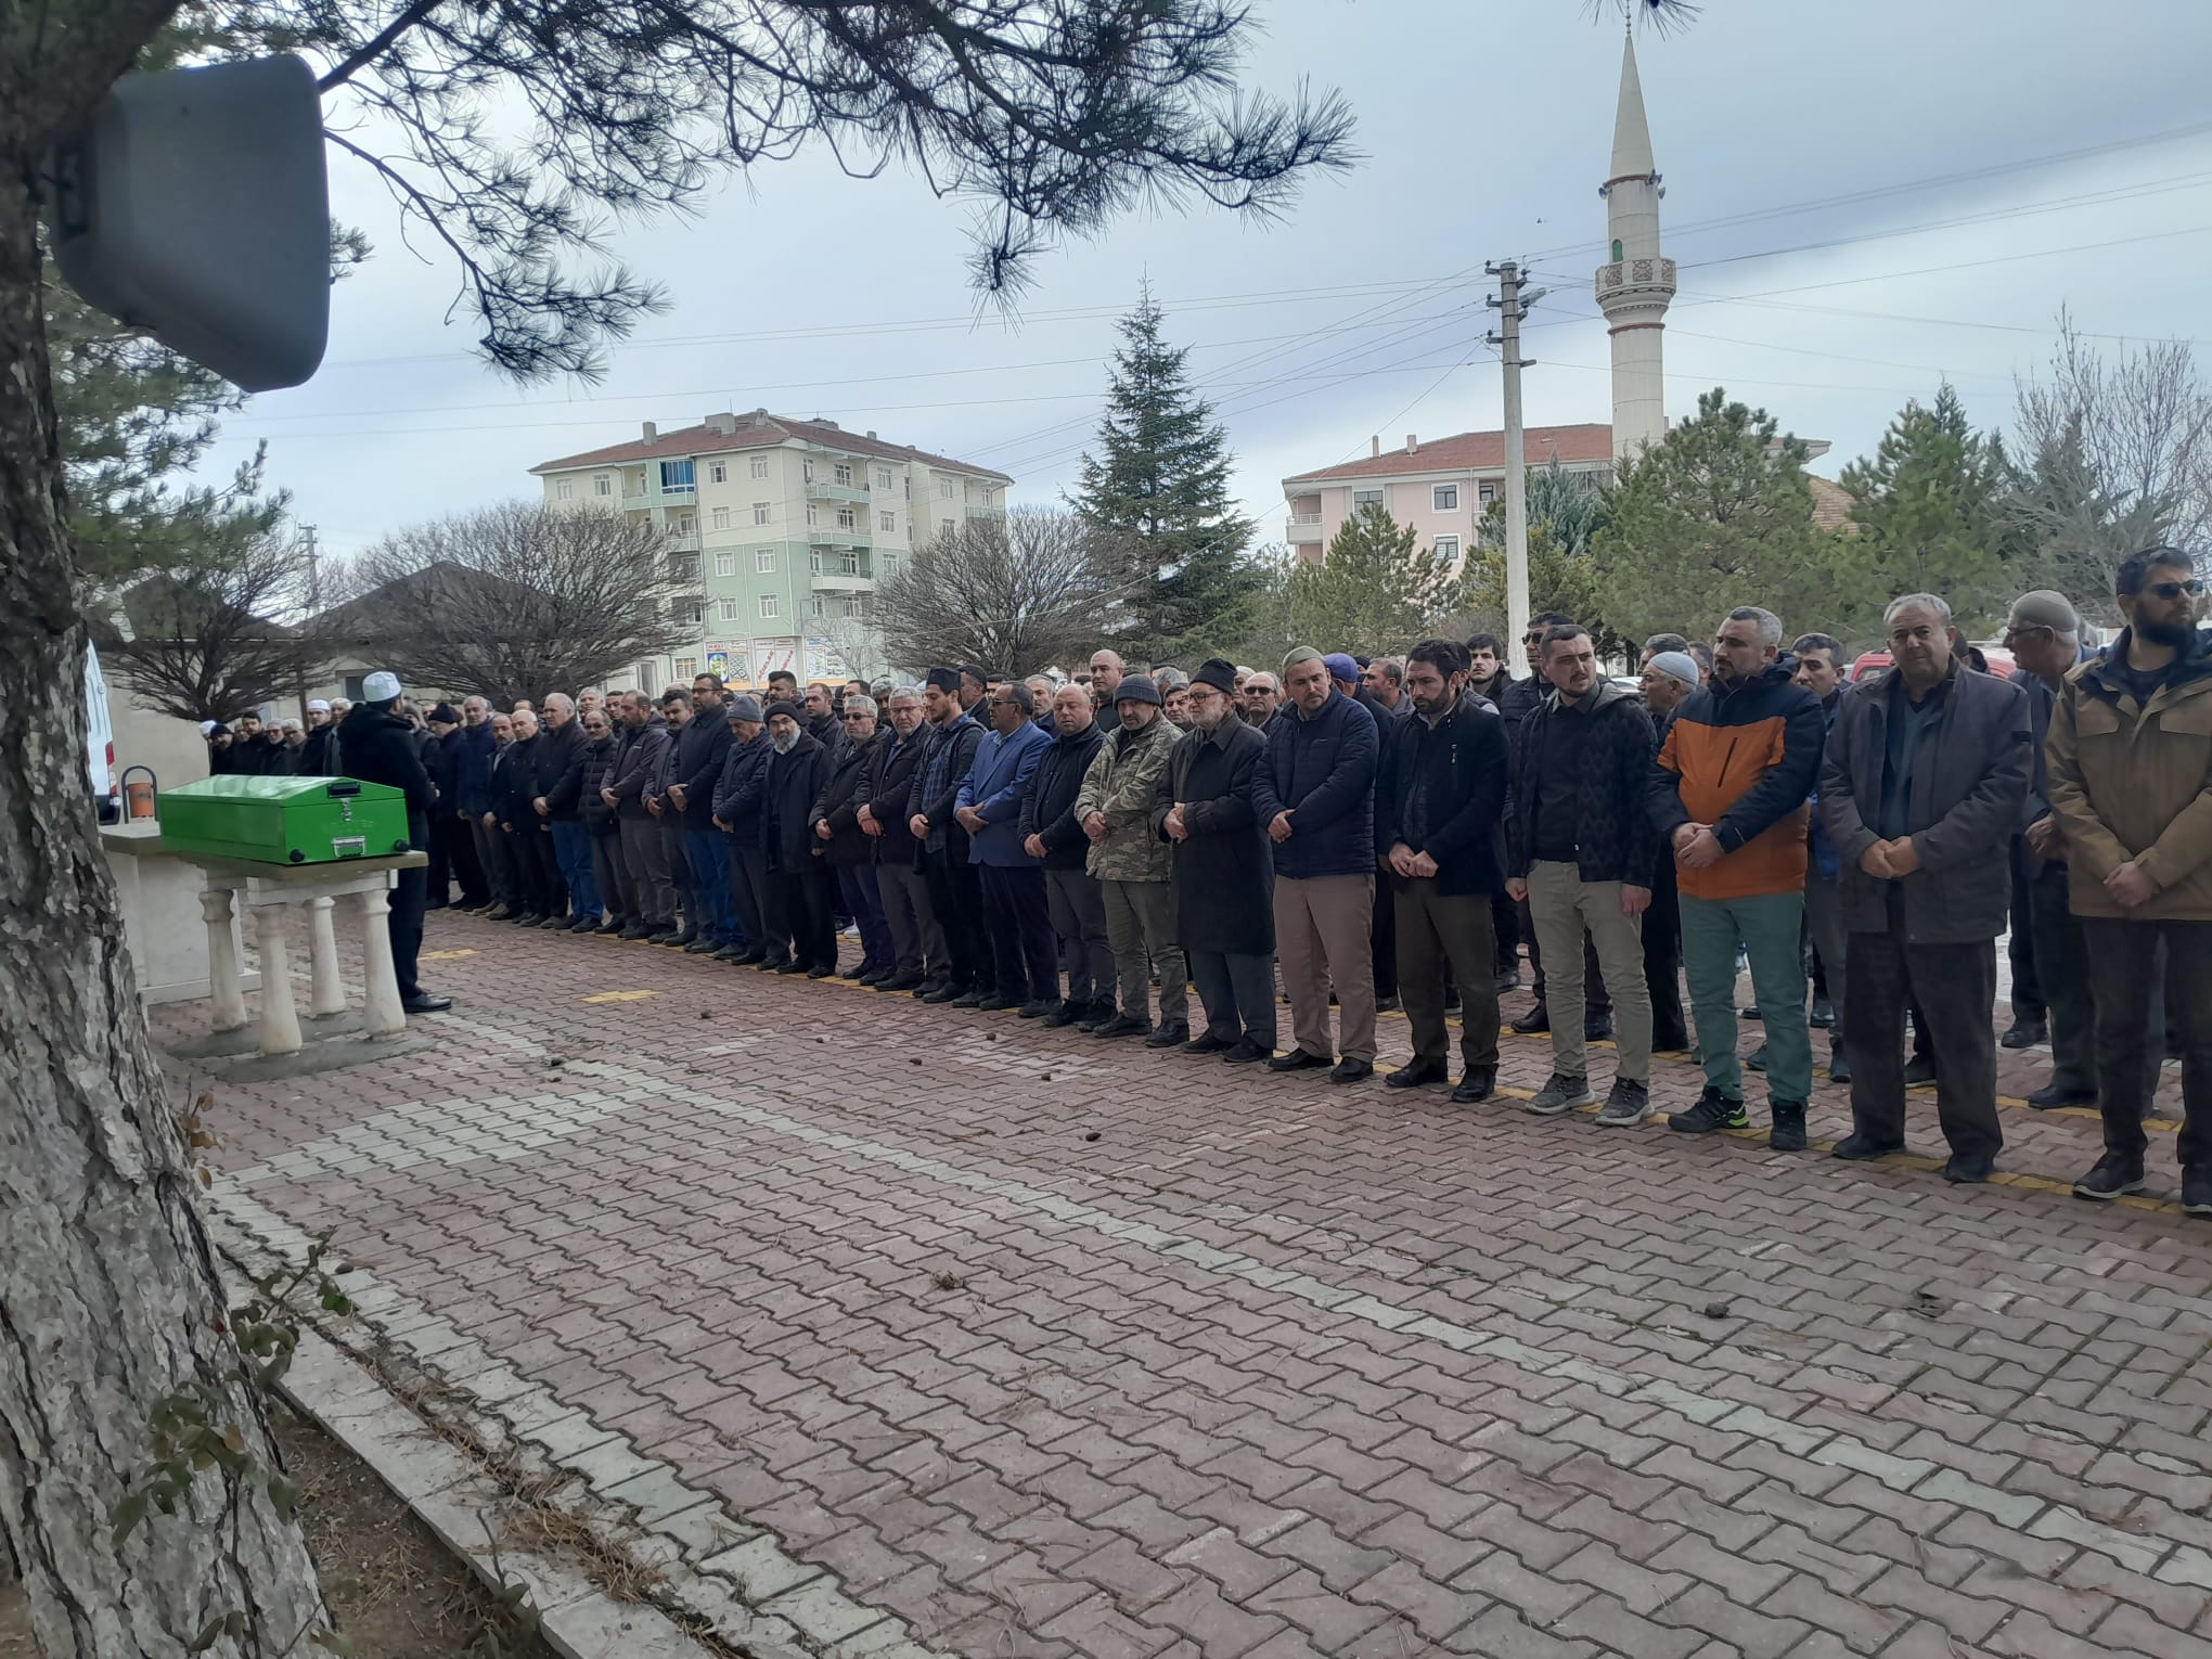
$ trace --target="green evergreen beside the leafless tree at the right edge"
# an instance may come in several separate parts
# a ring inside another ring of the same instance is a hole
[[[2004,518],[2004,442],[1966,422],[1944,383],[1933,405],[1907,403],[1871,460],[1843,469],[1851,493],[1851,568],[1863,608],[1900,593],[1938,593],[1960,617],[2002,602],[2020,538]]]

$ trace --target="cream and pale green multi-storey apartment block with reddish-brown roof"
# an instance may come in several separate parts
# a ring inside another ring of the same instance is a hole
[[[602,507],[668,533],[697,577],[690,655],[639,664],[639,684],[701,668],[757,686],[772,670],[843,679],[867,655],[876,582],[951,524],[1004,518],[1006,473],[768,409],[697,427],[644,422],[622,445],[531,467],[553,507]]]

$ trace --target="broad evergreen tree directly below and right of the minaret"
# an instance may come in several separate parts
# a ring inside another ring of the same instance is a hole
[[[1697,637],[1756,604],[1785,628],[1832,628],[1851,602],[1838,538],[1812,522],[1805,442],[1719,387],[1663,442],[1619,462],[1590,544],[1626,637]]]

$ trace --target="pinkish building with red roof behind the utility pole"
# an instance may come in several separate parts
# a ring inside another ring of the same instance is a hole
[[[1590,473],[1597,484],[1613,473],[1613,427],[1528,427],[1522,458],[1531,469],[1557,458],[1566,471]],[[1387,453],[1380,438],[1369,438],[1358,460],[1283,480],[1290,507],[1283,540],[1301,560],[1318,564],[1336,529],[1363,504],[1376,502],[1400,524],[1411,524],[1420,546],[1467,557],[1475,526],[1504,487],[1502,431],[1462,431],[1429,442],[1409,431],[1405,449]]]

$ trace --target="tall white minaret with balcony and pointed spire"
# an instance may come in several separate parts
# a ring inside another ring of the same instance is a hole
[[[1663,330],[1674,299],[1674,261],[1659,257],[1659,199],[1635,29],[1621,44],[1621,97],[1613,115],[1613,164],[1597,188],[1606,201],[1608,261],[1597,268],[1597,307],[1613,336],[1613,453],[1632,456],[1666,438]]]

